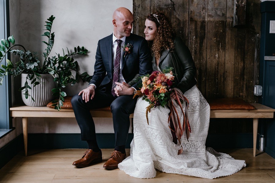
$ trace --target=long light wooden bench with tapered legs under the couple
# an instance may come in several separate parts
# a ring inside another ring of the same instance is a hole
[[[259,118],[273,118],[275,109],[254,103],[251,104],[256,109],[253,110],[211,110],[210,118],[252,118],[253,119],[253,156],[256,156],[256,139],[258,130]],[[90,111],[93,117],[112,117],[110,107],[93,109]],[[28,147],[28,118],[29,117],[75,117],[72,109],[61,109],[57,111],[49,107],[30,107],[30,106],[15,106],[10,108],[11,117],[22,117],[24,149],[27,156]],[[133,118],[133,114],[130,118]]]

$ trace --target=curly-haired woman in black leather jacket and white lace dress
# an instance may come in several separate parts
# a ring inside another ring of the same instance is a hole
[[[210,107],[196,87],[196,67],[187,46],[175,36],[171,22],[164,13],[149,14],[145,21],[145,39],[152,51],[154,70],[173,67],[176,88],[189,99],[188,118],[192,133],[180,142],[168,127],[168,107],[152,108],[145,116],[148,102],[140,97],[134,111],[134,138],[130,156],[119,168],[136,178],[153,178],[156,170],[201,178],[217,178],[231,175],[245,167],[244,160],[205,147],[208,134]],[[175,93],[171,93],[175,98]],[[177,111],[180,107],[175,105]],[[185,109],[184,109],[185,111]],[[183,114],[179,116],[183,121]],[[173,123],[170,123],[174,129]],[[182,151],[183,149],[183,151]]]

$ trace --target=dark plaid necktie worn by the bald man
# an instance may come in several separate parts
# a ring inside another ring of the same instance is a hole
[[[112,94],[116,96],[114,88],[116,87],[116,83],[119,81],[119,71],[120,71],[120,53],[121,53],[121,40],[117,39],[117,47],[116,47],[116,59],[114,66],[114,74],[113,74],[113,84],[112,84]]]

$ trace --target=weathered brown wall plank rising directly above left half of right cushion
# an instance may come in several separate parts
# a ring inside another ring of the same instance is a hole
[[[224,96],[226,0],[208,1],[206,97]]]

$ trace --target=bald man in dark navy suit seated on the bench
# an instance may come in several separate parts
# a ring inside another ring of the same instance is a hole
[[[88,167],[102,161],[90,109],[106,106],[111,106],[116,144],[114,152],[103,167],[117,168],[126,158],[129,116],[134,112],[137,102],[137,99],[133,99],[137,84],[127,87],[127,83],[132,83],[138,73],[145,75],[152,72],[151,52],[147,41],[131,34],[133,21],[130,10],[123,7],[115,10],[112,21],[114,32],[98,41],[94,75],[89,86],[71,99],[81,130],[81,140],[87,141],[89,146],[84,156],[73,163],[74,166]]]

